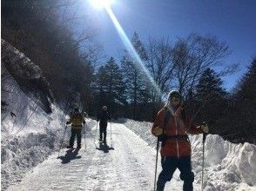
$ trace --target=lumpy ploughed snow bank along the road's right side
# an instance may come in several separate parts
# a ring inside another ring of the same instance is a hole
[[[151,122],[123,120],[127,128],[138,134],[152,147],[156,138],[151,134]],[[201,184],[202,135],[191,135],[192,168],[195,183]],[[233,144],[219,135],[207,135],[205,141],[204,187],[213,190],[256,190],[256,146]],[[199,186],[197,187],[199,188]]]

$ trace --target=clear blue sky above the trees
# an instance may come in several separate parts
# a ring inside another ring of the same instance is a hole
[[[239,72],[223,78],[226,89],[232,89],[256,56],[256,1],[254,0],[115,0],[112,10],[127,36],[138,32],[142,41],[149,36],[176,36],[190,33],[219,36],[232,55],[224,63],[240,63]],[[98,43],[107,56],[119,58],[124,49],[111,19],[104,10],[85,3],[86,11],[97,26]]]

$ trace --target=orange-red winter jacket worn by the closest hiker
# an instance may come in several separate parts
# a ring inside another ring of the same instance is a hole
[[[152,134],[154,135],[154,128],[163,128],[165,121],[165,110],[167,108],[161,109],[158,112],[157,118],[152,126]],[[198,135],[202,133],[199,128],[196,128],[192,124],[192,120],[185,117],[182,120],[180,116],[173,116],[169,118],[169,121],[165,125],[166,135],[186,135],[186,133]],[[165,145],[161,147],[160,153],[162,156],[191,156],[191,144],[185,139],[172,138],[167,139]]]

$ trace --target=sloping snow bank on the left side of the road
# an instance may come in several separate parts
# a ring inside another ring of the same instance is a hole
[[[4,64],[1,76],[1,188],[4,190],[21,181],[28,170],[59,149],[65,121],[64,112],[53,104],[51,115],[46,114],[35,97],[24,93]],[[86,122],[90,131],[95,121]],[[64,145],[69,134],[70,131],[65,135]]]

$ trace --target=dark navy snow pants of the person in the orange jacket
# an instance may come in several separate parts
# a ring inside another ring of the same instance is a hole
[[[158,175],[157,191],[165,189],[166,181],[172,180],[172,175],[177,168],[180,171],[180,179],[184,181],[183,191],[192,191],[194,174],[192,173],[191,156],[184,157],[165,157],[161,159],[162,171]]]

